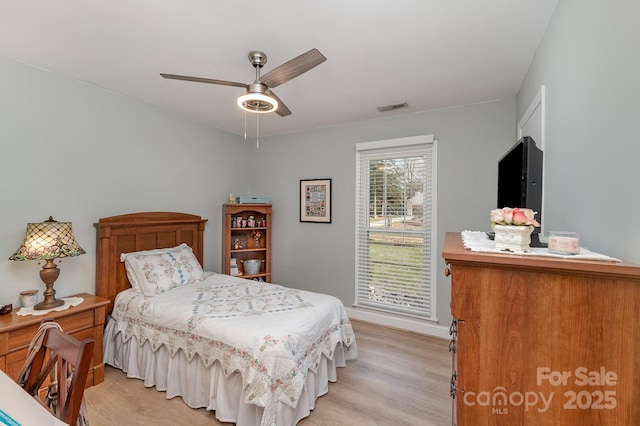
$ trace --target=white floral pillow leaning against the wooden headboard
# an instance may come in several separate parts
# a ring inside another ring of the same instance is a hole
[[[204,279],[204,271],[187,244],[167,249],[122,253],[131,287],[147,296]]]

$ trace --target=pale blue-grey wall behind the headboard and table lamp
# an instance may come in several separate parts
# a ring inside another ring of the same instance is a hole
[[[248,188],[236,136],[0,58],[0,304],[43,289],[35,261],[13,262],[27,222],[73,223],[86,255],[63,259],[58,296],[95,292],[101,217],[183,211],[209,218],[205,267],[219,270],[221,207]],[[42,293],[40,293],[41,295]]]

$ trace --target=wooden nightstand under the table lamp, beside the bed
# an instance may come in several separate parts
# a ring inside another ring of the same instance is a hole
[[[84,301],[64,311],[37,316],[18,316],[18,308],[8,315],[0,316],[0,370],[14,380],[18,378],[27,359],[29,343],[36,334],[40,322],[44,318],[51,318],[60,324],[65,333],[76,339],[93,338],[95,340],[87,387],[102,383],[104,381],[102,335],[109,300],[88,293],[77,294],[75,297],[82,297]]]

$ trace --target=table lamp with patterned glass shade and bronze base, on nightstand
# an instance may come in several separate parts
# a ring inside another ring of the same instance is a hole
[[[27,235],[18,250],[9,260],[45,260],[40,270],[40,279],[45,283],[44,300],[33,307],[35,310],[52,309],[64,304],[57,300],[53,283],[60,275],[60,269],[53,259],[67,256],[80,256],[85,251],[80,247],[71,232],[70,222],[49,220],[40,223],[28,223]]]

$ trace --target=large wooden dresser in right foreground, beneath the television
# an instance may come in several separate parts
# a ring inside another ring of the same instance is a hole
[[[640,266],[474,253],[447,233],[454,424],[640,424]]]

